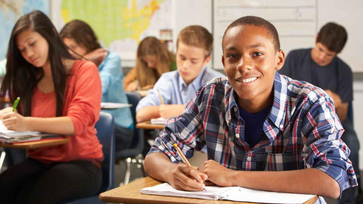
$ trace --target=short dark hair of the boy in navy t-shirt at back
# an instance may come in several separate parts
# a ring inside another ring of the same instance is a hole
[[[317,42],[327,46],[330,51],[339,53],[344,48],[347,38],[348,34],[343,26],[329,22],[319,30]]]

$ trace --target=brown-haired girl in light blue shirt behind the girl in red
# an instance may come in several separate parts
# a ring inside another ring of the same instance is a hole
[[[60,36],[75,58],[91,60],[98,66],[102,83],[102,102],[129,103],[123,91],[121,59],[115,52],[101,47],[92,28],[84,21],[73,20],[61,30]],[[128,148],[132,143],[134,124],[129,107],[102,110],[114,117],[116,151]]]

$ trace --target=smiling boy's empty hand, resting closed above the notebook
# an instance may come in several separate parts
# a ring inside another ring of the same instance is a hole
[[[223,187],[233,186],[234,172],[217,163],[215,160],[205,161],[200,170],[200,173],[208,176],[209,181],[205,182],[205,185],[217,184]]]

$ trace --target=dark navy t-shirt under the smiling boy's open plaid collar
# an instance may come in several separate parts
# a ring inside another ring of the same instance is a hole
[[[238,103],[237,107],[240,117],[245,121],[244,141],[250,147],[254,147],[264,136],[267,139],[263,127],[272,108],[272,103],[257,113],[248,113]]]

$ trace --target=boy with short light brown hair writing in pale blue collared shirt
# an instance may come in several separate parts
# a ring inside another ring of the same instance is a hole
[[[213,36],[207,29],[192,25],[180,31],[176,42],[176,71],[164,73],[150,93],[136,107],[136,121],[180,115],[187,102],[205,82],[223,74],[205,67],[211,60]],[[161,104],[158,90],[162,95]]]

